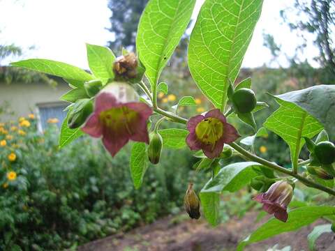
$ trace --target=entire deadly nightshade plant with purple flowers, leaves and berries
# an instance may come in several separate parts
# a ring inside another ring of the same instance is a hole
[[[134,141],[130,165],[135,188],[140,187],[145,172],[150,170],[149,161],[164,161],[162,149],[188,145],[191,150],[199,150],[194,153],[195,158],[200,158],[197,171],[211,169],[211,178],[199,193],[201,203],[192,185],[188,188],[185,207],[191,218],[200,217],[201,204],[204,217],[211,225],[217,225],[221,193],[237,192],[249,185],[254,188],[253,194],[263,192],[255,199],[275,218],[241,241],[240,251],[248,243],[298,229],[321,217],[334,218],[335,213],[332,206],[309,205],[288,212],[291,183],[335,195],[331,142],[335,136],[335,85],[311,86],[272,96],[279,108],[258,128],[257,112],[268,105],[258,101],[250,78],[235,83],[262,2],[204,1],[189,39],[187,64],[194,82],[214,109],[190,119],[180,116],[178,108],[195,106],[192,96],[180,98],[170,109],[159,107],[157,97],[160,92],[168,94],[171,83],[161,82],[161,73],[188,27],[195,0],[149,0],[137,30],[137,54],[123,50],[116,57],[107,47],[87,44],[91,73],[47,59],[29,59],[12,65],[56,75],[68,82],[71,90],[61,97],[70,104],[61,126],[60,147],[87,133],[101,137],[114,156],[128,141]],[[251,126],[253,132],[239,137],[237,130],[227,123],[228,116]],[[156,121],[154,130],[151,121]],[[162,121],[166,127],[160,130]],[[176,123],[180,125],[175,127]],[[153,131],[159,135],[153,143],[158,144],[148,146],[149,132]],[[255,141],[268,131],[288,144],[290,167],[255,154]],[[300,160],[305,143],[311,155]],[[234,156],[245,161],[236,162]],[[228,158],[231,164],[225,165]]]

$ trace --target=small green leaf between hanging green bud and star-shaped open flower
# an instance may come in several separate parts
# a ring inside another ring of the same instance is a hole
[[[172,149],[181,149],[186,146],[186,136],[188,130],[184,129],[163,129],[159,130],[159,134],[163,138],[163,146],[170,147]]]

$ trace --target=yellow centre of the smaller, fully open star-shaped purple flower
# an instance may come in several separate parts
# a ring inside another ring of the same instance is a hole
[[[223,123],[216,118],[203,119],[195,127],[195,134],[202,143],[214,145],[223,135]]]

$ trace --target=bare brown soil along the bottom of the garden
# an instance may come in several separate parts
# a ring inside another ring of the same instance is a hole
[[[230,220],[211,228],[203,220],[184,220],[184,215],[163,218],[151,225],[138,227],[126,234],[117,234],[82,245],[79,251],[228,251],[235,250],[239,240],[258,227],[255,213],[248,213],[242,220]],[[315,225],[322,221],[315,222]],[[291,245],[291,251],[308,251],[306,236],[313,229],[282,234],[248,246],[245,250],[265,251],[279,243],[278,248]],[[323,234],[318,242],[318,251],[335,251],[334,234]]]

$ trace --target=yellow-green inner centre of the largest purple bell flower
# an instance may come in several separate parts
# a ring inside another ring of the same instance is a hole
[[[128,107],[112,108],[107,111],[101,112],[99,119],[113,131],[120,131],[126,129],[130,135],[133,135],[131,131],[131,124],[136,123],[138,113]]]

